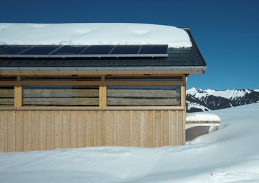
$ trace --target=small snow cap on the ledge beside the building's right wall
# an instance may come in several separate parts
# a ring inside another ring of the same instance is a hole
[[[186,115],[186,121],[220,121],[220,116],[210,112],[193,112]]]

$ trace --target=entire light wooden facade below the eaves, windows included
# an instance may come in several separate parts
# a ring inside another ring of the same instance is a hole
[[[0,152],[184,144],[186,76],[152,76],[148,80],[145,80],[146,76],[138,76],[127,80],[129,77],[108,80],[107,76],[100,76],[100,80],[94,81],[87,77],[70,77],[71,80],[35,76],[17,76],[15,80],[8,80],[0,77]],[[156,79],[152,81],[154,77]],[[77,90],[69,93],[63,88],[51,91],[51,86],[71,85],[78,86]],[[6,89],[1,90],[3,86]],[[84,86],[94,87],[81,89]],[[115,87],[109,89],[109,86]],[[125,86],[134,87],[124,91]],[[163,98],[150,99],[158,94],[152,89],[143,90],[145,86],[159,88]],[[177,87],[175,91],[165,91],[163,86]],[[69,98],[71,96],[74,98]],[[91,97],[91,100],[77,98],[84,96]],[[6,105],[8,101],[11,105]],[[73,103],[89,106],[73,106]],[[145,106],[134,105],[138,103]],[[166,103],[171,105],[166,106]]]

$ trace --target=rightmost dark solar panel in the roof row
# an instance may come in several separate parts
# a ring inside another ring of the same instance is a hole
[[[168,45],[143,45],[139,54],[168,54]]]

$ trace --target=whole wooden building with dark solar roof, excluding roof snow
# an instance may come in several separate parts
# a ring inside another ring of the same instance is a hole
[[[185,143],[192,46],[0,45],[0,152]]]

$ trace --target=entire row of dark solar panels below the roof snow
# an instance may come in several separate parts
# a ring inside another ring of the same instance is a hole
[[[168,57],[168,45],[1,45],[0,57]]]

